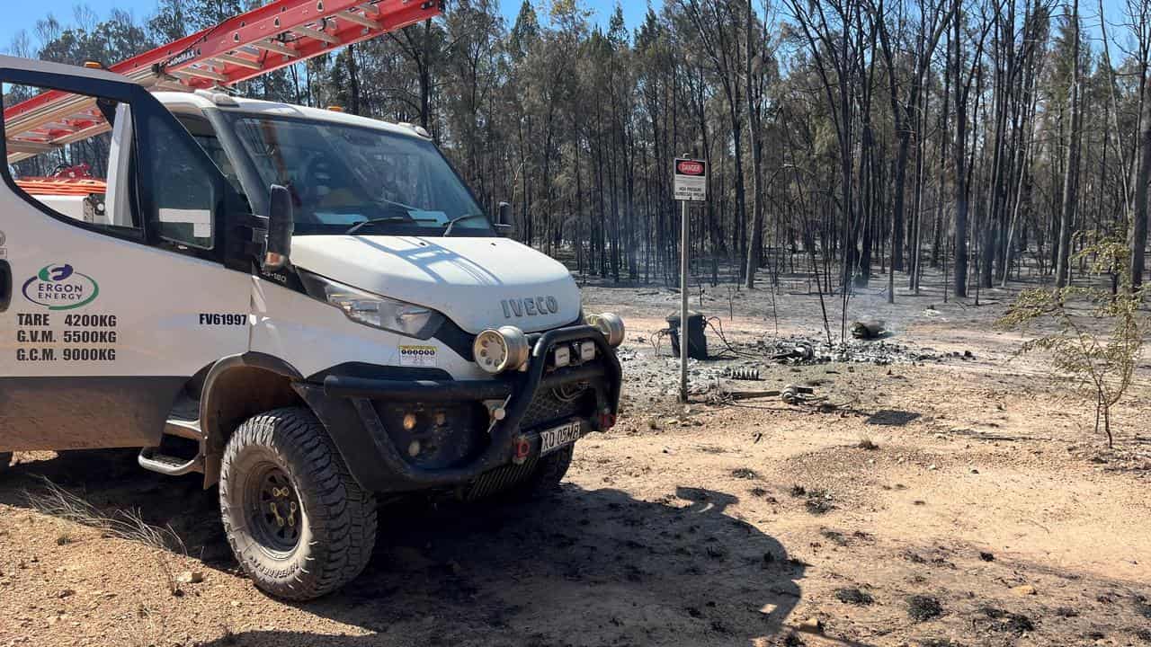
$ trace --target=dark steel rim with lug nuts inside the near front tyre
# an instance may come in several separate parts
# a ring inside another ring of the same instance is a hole
[[[247,484],[245,509],[252,538],[275,557],[295,550],[304,511],[291,478],[279,465],[264,463],[252,470]]]

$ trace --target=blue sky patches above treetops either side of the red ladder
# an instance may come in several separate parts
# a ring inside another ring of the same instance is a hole
[[[500,0],[504,15],[508,17],[509,26],[516,20],[516,14],[523,0]],[[105,18],[113,8],[122,8],[130,12],[137,22],[143,22],[155,10],[155,0],[38,0],[29,2],[18,0],[5,2],[3,20],[0,21],[0,51],[7,51],[14,36],[20,30],[26,30],[29,36],[33,36],[36,21],[52,14],[61,23],[73,22],[73,13],[76,5],[83,3],[90,7],[96,15]],[[634,28],[647,14],[647,2],[643,0],[625,0],[620,2],[624,7],[624,17],[627,25]],[[539,8],[542,2],[534,2]],[[595,20],[601,24],[607,24],[608,18],[615,10],[615,0],[584,0],[584,6],[595,12]],[[449,5],[449,10],[451,6]]]

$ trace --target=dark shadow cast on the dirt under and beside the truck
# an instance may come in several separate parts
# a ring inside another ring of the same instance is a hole
[[[105,467],[93,474],[81,469],[87,463],[17,465],[13,475],[23,482],[0,488],[0,502],[26,507],[21,485],[35,487],[28,477],[44,475],[100,508],[139,509],[150,523],[171,525],[189,554],[235,572],[214,489],[201,492],[196,478]],[[273,629],[200,645],[700,646],[782,637],[805,566],[730,516],[738,501],[691,487],[642,501],[565,484],[528,503],[394,503],[380,510],[365,573],[289,611],[294,622],[303,611],[361,635]]]

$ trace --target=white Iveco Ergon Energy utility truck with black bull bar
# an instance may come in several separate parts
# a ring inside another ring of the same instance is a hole
[[[62,106],[0,138],[0,451],[201,473],[257,586],[307,600],[364,569],[378,495],[540,490],[615,424],[623,322],[421,128],[6,56],[0,82]]]

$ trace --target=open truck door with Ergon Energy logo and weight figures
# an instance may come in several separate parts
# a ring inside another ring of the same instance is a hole
[[[223,253],[243,200],[124,77],[0,56],[0,451],[158,444],[189,381],[247,350],[252,279]]]

